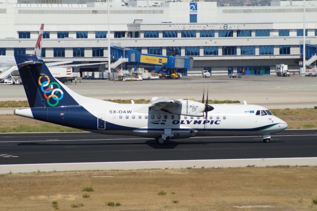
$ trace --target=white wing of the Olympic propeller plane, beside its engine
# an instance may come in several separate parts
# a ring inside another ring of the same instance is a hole
[[[149,107],[154,111],[163,110],[171,113],[174,113],[173,111],[178,110],[180,106],[182,106],[181,101],[164,97],[152,98],[151,102],[149,103]]]

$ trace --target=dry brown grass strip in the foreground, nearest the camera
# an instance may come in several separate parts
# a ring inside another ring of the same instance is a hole
[[[83,202],[78,209],[87,211],[316,210],[316,172],[317,167],[279,166],[4,174],[0,210],[53,210],[53,201],[59,210]],[[82,198],[83,186],[96,187],[93,197]],[[167,194],[159,196],[160,190]],[[108,207],[107,202],[121,206]]]

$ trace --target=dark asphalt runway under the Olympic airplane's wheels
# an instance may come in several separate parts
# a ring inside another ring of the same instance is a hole
[[[0,164],[317,157],[317,130],[261,137],[193,137],[167,142],[96,133],[0,134]]]

